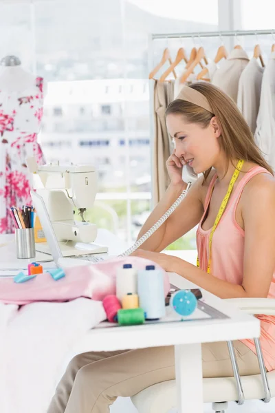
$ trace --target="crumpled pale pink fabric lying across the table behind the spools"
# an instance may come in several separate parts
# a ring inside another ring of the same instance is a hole
[[[13,278],[0,279],[0,301],[5,304],[30,304],[35,301],[69,301],[78,297],[101,301],[106,295],[115,294],[115,272],[123,264],[144,269],[155,265],[164,273],[164,290],[170,288],[168,275],[150,260],[140,257],[120,257],[89,266],[66,268],[65,277],[54,281],[49,273],[43,273],[30,281],[17,284]]]

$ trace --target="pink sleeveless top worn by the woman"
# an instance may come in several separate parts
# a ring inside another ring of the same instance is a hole
[[[230,197],[228,205],[212,238],[210,271],[214,277],[231,282],[232,284],[241,284],[243,281],[243,256],[245,243],[245,231],[243,231],[236,222],[236,207],[241,198],[245,184],[258,173],[269,172],[263,167],[253,167],[250,171],[245,173],[245,176],[239,181],[236,190]],[[208,266],[209,237],[211,229],[207,231],[203,230],[201,228],[201,223],[208,210],[212,188],[214,187],[216,178],[217,175],[215,174],[210,182],[204,204],[204,213],[197,229],[199,265],[203,271],[207,271]],[[272,283],[270,284],[268,297],[275,298],[275,272],[272,278]],[[261,346],[263,357],[265,359],[265,367],[268,371],[275,370],[275,317],[271,315],[259,315],[257,317],[261,320]],[[253,340],[246,339],[242,341],[256,354]]]

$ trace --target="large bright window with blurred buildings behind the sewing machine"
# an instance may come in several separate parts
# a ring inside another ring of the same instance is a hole
[[[149,51],[148,35],[217,30],[217,4],[197,0],[186,8],[182,0],[170,0],[167,8],[159,0],[41,0],[32,6],[0,1],[1,56],[19,56],[24,67],[47,80],[47,126],[41,132],[47,161],[73,157],[94,165],[97,198],[115,209],[119,235],[128,242],[151,210],[148,52],[156,64],[167,45],[172,58],[182,43],[187,53],[194,45],[192,39],[164,39]],[[213,42],[203,39],[203,46],[210,50]],[[103,213],[98,214],[93,220],[101,223]]]

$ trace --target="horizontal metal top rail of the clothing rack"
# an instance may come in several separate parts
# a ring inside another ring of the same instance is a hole
[[[184,33],[153,33],[151,39],[184,39],[186,37],[228,37],[228,36],[262,36],[264,34],[275,34],[275,30],[230,30],[228,32],[184,32]]]

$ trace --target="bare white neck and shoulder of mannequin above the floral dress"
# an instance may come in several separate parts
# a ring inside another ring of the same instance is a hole
[[[23,92],[34,89],[36,76],[21,66],[16,56],[5,56],[0,62],[0,90],[3,92]]]

